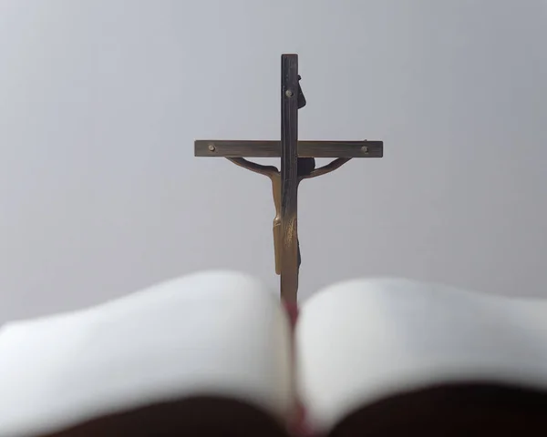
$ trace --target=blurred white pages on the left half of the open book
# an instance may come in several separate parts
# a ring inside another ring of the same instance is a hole
[[[186,394],[291,409],[288,322],[274,293],[203,272],[90,310],[0,330],[0,436],[54,431]]]

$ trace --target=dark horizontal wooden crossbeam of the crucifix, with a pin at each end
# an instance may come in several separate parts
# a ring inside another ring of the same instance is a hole
[[[280,158],[281,141],[199,139],[196,157]],[[382,158],[383,141],[298,141],[299,158]]]

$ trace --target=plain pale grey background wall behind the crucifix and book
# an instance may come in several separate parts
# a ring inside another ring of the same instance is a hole
[[[291,52],[302,139],[385,141],[302,186],[302,298],[378,275],[544,295],[546,41],[542,0],[1,0],[0,321],[197,269],[275,289],[269,180],[192,154],[279,137]]]

